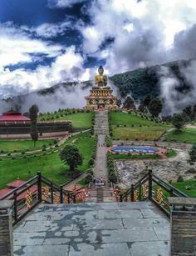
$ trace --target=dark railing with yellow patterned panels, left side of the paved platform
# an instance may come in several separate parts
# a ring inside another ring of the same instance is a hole
[[[13,225],[32,211],[38,203],[76,203],[79,193],[66,191],[52,183],[40,172],[17,188],[3,195],[0,200],[13,200]]]

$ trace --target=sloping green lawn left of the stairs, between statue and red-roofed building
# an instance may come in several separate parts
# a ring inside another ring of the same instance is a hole
[[[93,113],[71,113],[68,115],[60,116],[59,118],[56,118],[56,115],[54,115],[55,121],[65,121],[69,120],[72,122],[72,125],[74,128],[91,128],[92,125],[92,116]],[[51,114],[44,114],[42,117],[39,117],[39,120],[42,120],[42,118],[51,118]]]

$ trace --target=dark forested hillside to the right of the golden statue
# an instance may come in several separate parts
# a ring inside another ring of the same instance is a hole
[[[181,72],[182,68],[186,68],[190,61],[175,61],[172,63],[165,63],[163,65],[156,65],[150,68],[139,68],[134,71],[115,74],[110,79],[119,89],[120,97],[125,98],[128,94],[135,100],[145,98],[149,94],[152,98],[160,95],[160,73],[161,67],[170,68],[174,77],[179,80],[180,86],[177,90],[184,91],[189,89],[190,85],[184,78]]]

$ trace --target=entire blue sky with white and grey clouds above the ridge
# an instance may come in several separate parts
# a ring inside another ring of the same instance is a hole
[[[195,57],[195,0],[0,1],[0,97]]]

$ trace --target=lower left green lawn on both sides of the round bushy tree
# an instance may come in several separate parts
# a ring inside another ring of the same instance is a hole
[[[78,135],[78,134],[77,134]],[[74,137],[73,137],[74,139]],[[91,158],[94,138],[82,134],[82,138],[76,141],[76,146],[83,155],[83,163],[78,169],[85,171],[88,168],[88,161]],[[64,173],[68,166],[61,162],[59,153],[39,156],[36,158],[22,158],[15,160],[0,161],[0,188],[6,188],[6,183],[10,183],[17,178],[27,180],[41,171],[43,176],[51,179],[54,183],[66,183],[68,178]]]

